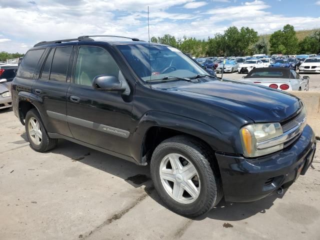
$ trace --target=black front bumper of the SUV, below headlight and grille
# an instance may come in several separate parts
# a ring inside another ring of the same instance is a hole
[[[279,187],[288,187],[311,164],[315,136],[306,125],[297,140],[275,153],[245,158],[215,153],[225,201],[246,202],[261,199]]]

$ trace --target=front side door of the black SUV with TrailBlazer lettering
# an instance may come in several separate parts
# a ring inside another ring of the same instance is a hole
[[[102,74],[114,75],[127,86],[118,65],[107,50],[97,46],[79,46],[74,60],[74,82],[67,92],[67,121],[73,137],[129,155],[132,97],[92,87],[93,78]]]

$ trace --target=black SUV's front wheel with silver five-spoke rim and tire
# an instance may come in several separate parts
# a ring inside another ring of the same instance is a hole
[[[163,202],[189,217],[210,210],[222,198],[217,164],[211,150],[196,138],[178,135],[154,150],[151,177]]]

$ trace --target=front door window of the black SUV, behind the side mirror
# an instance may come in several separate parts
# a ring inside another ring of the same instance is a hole
[[[99,47],[80,47],[76,58],[74,83],[91,86],[93,78],[101,74],[118,77],[119,67],[112,56]]]

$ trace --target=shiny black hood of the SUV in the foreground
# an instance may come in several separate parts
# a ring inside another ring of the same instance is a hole
[[[300,107],[299,99],[269,87],[239,81],[213,80],[165,89],[175,94],[223,107],[251,118],[255,122],[279,122]]]

